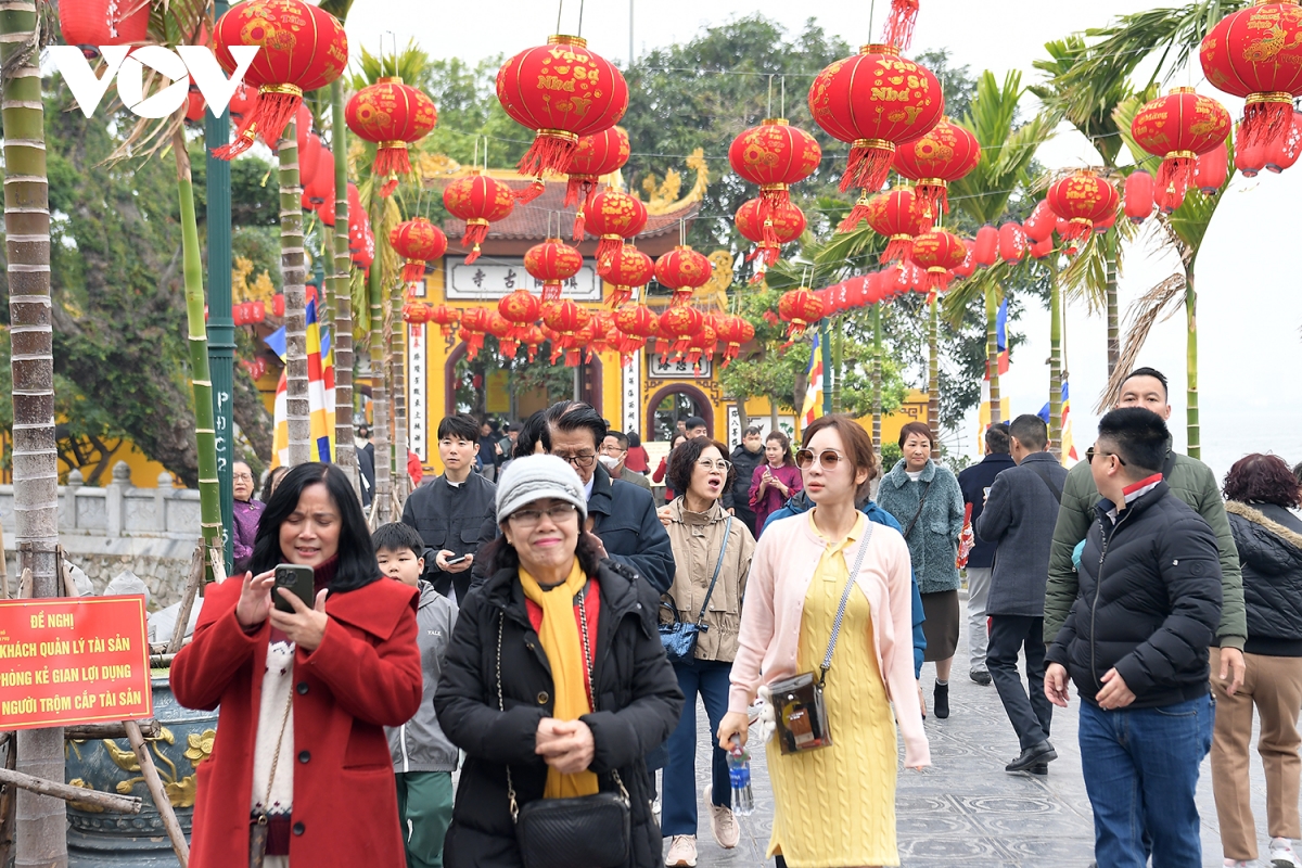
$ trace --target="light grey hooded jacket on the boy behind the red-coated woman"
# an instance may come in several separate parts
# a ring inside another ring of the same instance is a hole
[[[392,580],[392,579],[391,579]],[[402,726],[385,726],[389,753],[395,772],[456,772],[457,748],[439,729],[439,716],[434,711],[434,691],[443,674],[443,660],[452,643],[452,627],[457,622],[457,606],[434,590],[428,582],[421,583],[421,603],[415,612],[417,639],[421,648],[421,709]]]

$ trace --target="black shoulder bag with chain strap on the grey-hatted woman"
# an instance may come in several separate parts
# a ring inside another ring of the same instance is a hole
[[[583,629],[583,664],[587,668],[587,701],[596,711],[592,698],[592,648],[587,638],[587,610],[578,599],[579,622]],[[497,708],[506,711],[501,699],[501,631],[505,614],[497,616]],[[535,799],[521,807],[516,802],[516,785],[506,766],[506,795],[510,819],[516,824],[516,845],[525,868],[616,868],[629,859],[629,791],[612,770],[618,793],[598,793],[574,799]]]

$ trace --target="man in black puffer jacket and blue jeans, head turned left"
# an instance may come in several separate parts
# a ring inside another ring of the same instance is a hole
[[[1198,766],[1211,750],[1207,648],[1221,614],[1216,535],[1161,479],[1167,424],[1113,410],[1090,449],[1103,500],[1079,593],[1047,658],[1044,691],[1081,692],[1079,742],[1095,858],[1109,868],[1202,865]]]

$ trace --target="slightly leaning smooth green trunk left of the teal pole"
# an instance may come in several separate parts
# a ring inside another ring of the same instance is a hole
[[[176,186],[181,200],[181,246],[185,262],[185,318],[190,329],[190,377],[194,388],[194,433],[199,459],[199,532],[203,536],[203,579],[216,580],[210,558],[223,552],[221,487],[217,481],[217,437],[212,405],[212,379],[208,370],[208,332],[203,321],[203,254],[199,250],[199,223],[194,213],[194,181],[190,177],[190,154],[185,148],[185,131],[172,137],[176,156]],[[229,439],[233,432],[225,432]],[[223,571],[225,565],[223,565]]]

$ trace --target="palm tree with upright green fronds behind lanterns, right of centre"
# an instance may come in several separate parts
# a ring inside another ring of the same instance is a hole
[[[950,185],[950,204],[978,225],[995,225],[1009,212],[1014,197],[1029,194],[1031,183],[1031,164],[1035,152],[1053,135],[1057,120],[1049,115],[1039,115],[1018,125],[1018,104],[1026,90],[1022,87],[1022,74],[1010,72],[1004,75],[1004,83],[995,79],[990,70],[982,73],[976,82],[976,98],[971,109],[960,118],[980,143],[980,161],[967,177]],[[996,316],[999,302],[1004,294],[1001,281],[1008,275],[1008,267],[996,263],[963,281],[950,290],[944,301],[944,310],[950,323],[962,319],[967,305],[975,293],[982,293],[986,301],[986,364],[990,368],[991,422],[1001,422],[999,388],[999,342]]]

